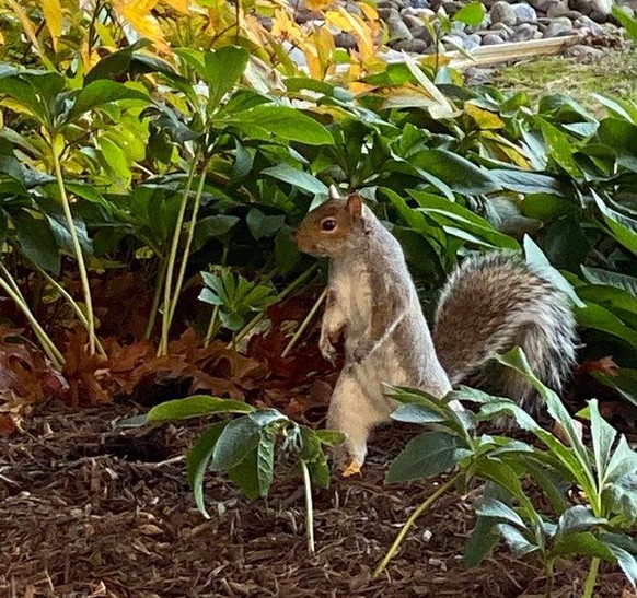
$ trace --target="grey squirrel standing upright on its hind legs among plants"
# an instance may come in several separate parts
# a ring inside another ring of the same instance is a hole
[[[320,349],[334,362],[334,345],[345,341],[327,414],[327,427],[347,434],[345,476],[360,471],[369,433],[396,408],[383,383],[442,398],[495,353],[520,345],[536,375],[561,389],[575,363],[574,316],[563,293],[516,254],[470,258],[452,272],[432,336],[399,243],[359,195],[340,198],[331,189],[294,239],[301,251],[331,259]],[[506,396],[533,407],[536,398],[522,376],[507,371],[501,378]]]

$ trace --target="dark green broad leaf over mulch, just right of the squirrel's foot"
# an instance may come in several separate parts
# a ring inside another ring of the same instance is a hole
[[[443,432],[426,432],[416,436],[392,461],[386,483],[421,480],[451,469],[456,462],[458,439]]]

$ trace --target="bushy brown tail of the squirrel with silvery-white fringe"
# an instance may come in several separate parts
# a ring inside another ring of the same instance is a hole
[[[496,353],[522,348],[542,382],[559,392],[575,363],[576,326],[568,298],[511,253],[468,258],[442,289],[433,343],[451,384],[491,382],[498,392],[534,411],[534,389],[510,368],[489,367]]]

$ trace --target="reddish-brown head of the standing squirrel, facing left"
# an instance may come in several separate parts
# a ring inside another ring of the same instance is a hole
[[[358,194],[338,197],[331,188],[331,199],[312,210],[294,233],[301,251],[316,257],[351,255],[367,243],[364,206]],[[336,195],[336,197],[334,197]]]

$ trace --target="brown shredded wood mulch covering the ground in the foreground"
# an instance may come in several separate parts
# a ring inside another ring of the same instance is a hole
[[[542,595],[532,556],[505,550],[467,571],[463,543],[478,491],[443,496],[409,532],[379,579],[371,573],[401,524],[440,483],[383,486],[406,442],[372,438],[363,476],[334,477],[314,494],[316,553],[304,538],[299,479],[283,466],[268,500],[248,502],[210,474],[212,517],[194,505],[183,455],[202,422],[121,430],[134,406],[65,412],[40,406],[0,437],[0,596],[490,597]],[[558,564],[553,596],[578,596],[586,562]],[[618,597],[622,574],[602,567],[598,596]]]

